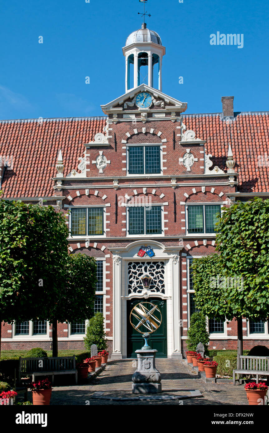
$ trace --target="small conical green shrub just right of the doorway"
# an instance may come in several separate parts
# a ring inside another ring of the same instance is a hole
[[[191,315],[190,327],[188,329],[188,350],[196,350],[198,343],[203,343],[204,349],[207,350],[209,344],[209,333],[206,329],[206,319],[201,311]]]

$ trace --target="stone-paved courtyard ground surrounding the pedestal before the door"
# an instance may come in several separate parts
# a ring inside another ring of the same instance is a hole
[[[162,375],[162,394],[132,394],[132,375],[135,359],[109,362],[106,369],[88,385],[54,386],[51,405],[247,405],[243,385],[206,384],[178,360],[156,359]],[[190,391],[199,390],[200,397]],[[95,394],[98,393],[98,394]],[[94,395],[93,395],[94,394]],[[169,398],[156,400],[156,397]],[[184,400],[181,397],[184,396]],[[94,398],[95,397],[95,398]],[[98,397],[98,398],[96,398]],[[153,397],[145,400],[145,397]],[[110,398],[111,400],[108,400]],[[175,399],[174,399],[175,398]],[[113,399],[113,400],[112,400]],[[124,400],[123,400],[124,399]],[[130,400],[132,399],[132,400]]]

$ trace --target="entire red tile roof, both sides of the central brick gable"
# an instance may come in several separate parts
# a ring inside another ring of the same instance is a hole
[[[269,113],[235,113],[223,120],[222,113],[183,114],[183,123],[206,140],[213,166],[226,170],[230,143],[239,172],[239,191],[269,191],[269,166],[258,166],[258,155],[269,155]],[[103,132],[106,117],[0,121],[0,156],[13,155],[13,170],[6,170],[2,188],[5,197],[54,195],[52,178],[62,149],[65,171],[78,165],[83,143]],[[266,161],[269,162],[268,159]]]

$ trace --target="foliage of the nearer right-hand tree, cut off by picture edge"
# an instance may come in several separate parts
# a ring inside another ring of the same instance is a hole
[[[228,275],[243,277],[229,287],[227,305],[235,317],[269,316],[269,199],[233,204],[217,224],[216,247]]]

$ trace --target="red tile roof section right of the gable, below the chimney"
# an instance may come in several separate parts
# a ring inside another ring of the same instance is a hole
[[[222,113],[186,114],[183,123],[196,136],[206,140],[213,167],[226,167],[228,145],[236,161],[240,192],[269,192],[269,112],[234,113],[234,120],[223,120]],[[259,167],[262,155],[267,166]]]

